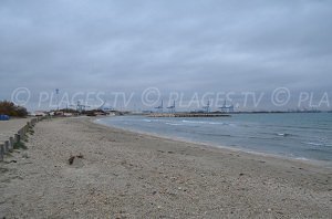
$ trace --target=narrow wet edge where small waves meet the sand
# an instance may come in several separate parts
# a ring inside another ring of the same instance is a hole
[[[107,117],[102,117],[102,118],[107,118]],[[108,128],[116,128],[116,129],[120,129],[123,132],[129,132],[133,134],[141,134],[141,135],[153,136],[153,137],[157,137],[157,138],[162,138],[162,139],[195,144],[197,146],[211,147],[211,148],[217,148],[217,149],[221,149],[221,150],[225,149],[225,150],[229,150],[229,152],[239,152],[239,153],[245,153],[245,154],[253,155],[253,156],[262,156],[262,157],[267,157],[267,158],[276,158],[276,159],[289,160],[289,161],[299,161],[299,163],[303,163],[303,164],[309,164],[309,165],[314,165],[314,166],[332,169],[332,161],[329,161],[329,160],[309,159],[305,157],[291,157],[291,156],[287,156],[287,155],[278,155],[278,154],[272,154],[272,153],[260,153],[260,152],[249,150],[249,149],[246,149],[242,147],[234,148],[231,146],[225,146],[225,145],[220,145],[220,144],[195,142],[195,140],[190,140],[190,139],[186,139],[186,138],[181,138],[181,137],[175,137],[175,136],[173,137],[173,136],[160,135],[160,134],[156,134],[156,133],[137,131],[134,128],[131,129],[131,128],[123,128],[123,127],[118,127],[118,126],[106,125],[106,124],[98,123],[97,119],[100,119],[100,118],[91,118],[91,123],[102,125],[102,126],[108,127]]]

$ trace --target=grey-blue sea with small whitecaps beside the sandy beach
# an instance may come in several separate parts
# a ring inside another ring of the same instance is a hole
[[[332,164],[332,113],[110,116],[98,118],[96,123],[216,147]]]

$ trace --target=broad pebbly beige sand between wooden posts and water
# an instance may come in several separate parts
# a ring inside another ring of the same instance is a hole
[[[0,217],[332,216],[332,173],[325,167],[107,128],[87,118],[44,121],[34,131],[28,150],[0,164]]]

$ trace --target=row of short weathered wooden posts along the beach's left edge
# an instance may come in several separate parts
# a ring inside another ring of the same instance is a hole
[[[8,140],[4,140],[4,144],[0,143],[0,161],[3,161],[4,155],[13,152],[14,145],[23,140],[30,128],[32,128],[35,123],[41,119],[41,117],[31,118],[31,121],[27,122],[27,124],[21,129],[19,129],[17,134],[9,137]]]

